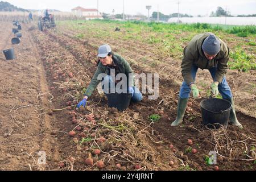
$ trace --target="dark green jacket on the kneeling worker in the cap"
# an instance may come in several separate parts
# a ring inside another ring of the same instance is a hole
[[[119,73],[124,73],[127,77],[127,84],[128,86],[134,86],[134,74],[133,69],[131,69],[130,64],[123,59],[120,55],[114,54],[112,57],[114,63],[118,66]],[[94,73],[94,76],[92,80],[90,81],[90,85],[86,89],[85,96],[90,97],[93,93],[93,90],[96,88],[96,86],[101,82],[101,80],[97,80],[98,75],[101,73],[106,73],[107,75],[110,75],[110,69],[106,66],[104,66],[101,62],[98,64],[98,68],[96,72]],[[129,73],[132,73],[131,77],[129,77]],[[129,79],[131,80],[129,82]]]

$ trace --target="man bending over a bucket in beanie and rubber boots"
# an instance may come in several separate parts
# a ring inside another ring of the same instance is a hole
[[[184,81],[180,88],[177,117],[172,122],[172,126],[177,126],[183,121],[190,92],[192,91],[194,98],[199,97],[199,90],[195,83],[198,68],[209,70],[213,78],[213,82],[210,85],[213,97],[220,92],[223,99],[231,102],[233,107],[230,111],[230,122],[234,126],[241,126],[236,117],[232,92],[225,77],[228,60],[228,46],[211,32],[199,34],[192,38],[191,42],[183,50],[181,73]]]

